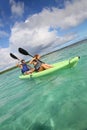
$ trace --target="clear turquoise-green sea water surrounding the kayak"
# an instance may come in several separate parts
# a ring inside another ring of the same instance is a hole
[[[0,75],[0,130],[87,130],[87,40],[42,58],[52,64],[80,56],[74,68],[37,79],[20,70]]]

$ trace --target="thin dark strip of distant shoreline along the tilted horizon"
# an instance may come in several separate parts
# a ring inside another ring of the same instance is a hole
[[[46,55],[49,55],[49,54],[51,54],[51,53],[54,53],[54,52],[56,52],[56,51],[60,51],[60,50],[63,50],[63,49],[65,49],[65,48],[68,48],[68,47],[77,45],[77,44],[79,44],[80,42],[84,42],[84,41],[86,41],[86,40],[87,40],[87,38],[85,38],[85,39],[83,39],[83,40],[80,40],[80,41],[77,41],[77,42],[75,42],[75,43],[72,43],[71,45],[67,45],[67,46],[65,46],[65,47],[63,47],[63,48],[60,48],[60,49],[57,49],[57,50],[55,50],[55,51],[49,52],[49,53],[47,53],[47,54],[44,54],[42,57],[44,57],[44,56],[46,56]],[[13,70],[13,69],[16,69],[16,68],[17,68],[16,66],[13,66],[13,67],[11,67],[11,68],[8,68],[8,69],[6,69],[6,70],[1,71],[0,74],[3,74],[3,73],[5,73],[5,72],[8,72],[8,71]]]

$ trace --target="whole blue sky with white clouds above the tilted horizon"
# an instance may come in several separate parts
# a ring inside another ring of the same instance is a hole
[[[18,48],[46,54],[87,38],[87,0],[0,0],[0,71]],[[27,57],[29,58],[29,57]]]

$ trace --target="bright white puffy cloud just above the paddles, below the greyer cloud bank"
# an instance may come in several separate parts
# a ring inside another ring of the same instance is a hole
[[[17,50],[18,47],[23,47],[30,50],[32,53],[44,53],[44,48],[47,52],[54,50],[57,46],[64,44],[67,41],[76,37],[75,34],[58,36],[58,32],[54,29],[49,31],[50,26],[29,27],[30,23],[17,23],[12,29],[10,37],[10,47]],[[50,50],[51,49],[51,50]],[[46,51],[45,51],[46,53]]]

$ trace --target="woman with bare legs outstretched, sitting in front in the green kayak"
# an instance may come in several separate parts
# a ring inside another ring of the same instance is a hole
[[[39,72],[39,71],[43,71],[43,70],[52,68],[51,65],[45,64],[42,61],[40,61],[39,59],[40,59],[40,55],[36,54],[34,56],[34,58],[29,62],[29,64],[34,65],[35,71]]]

